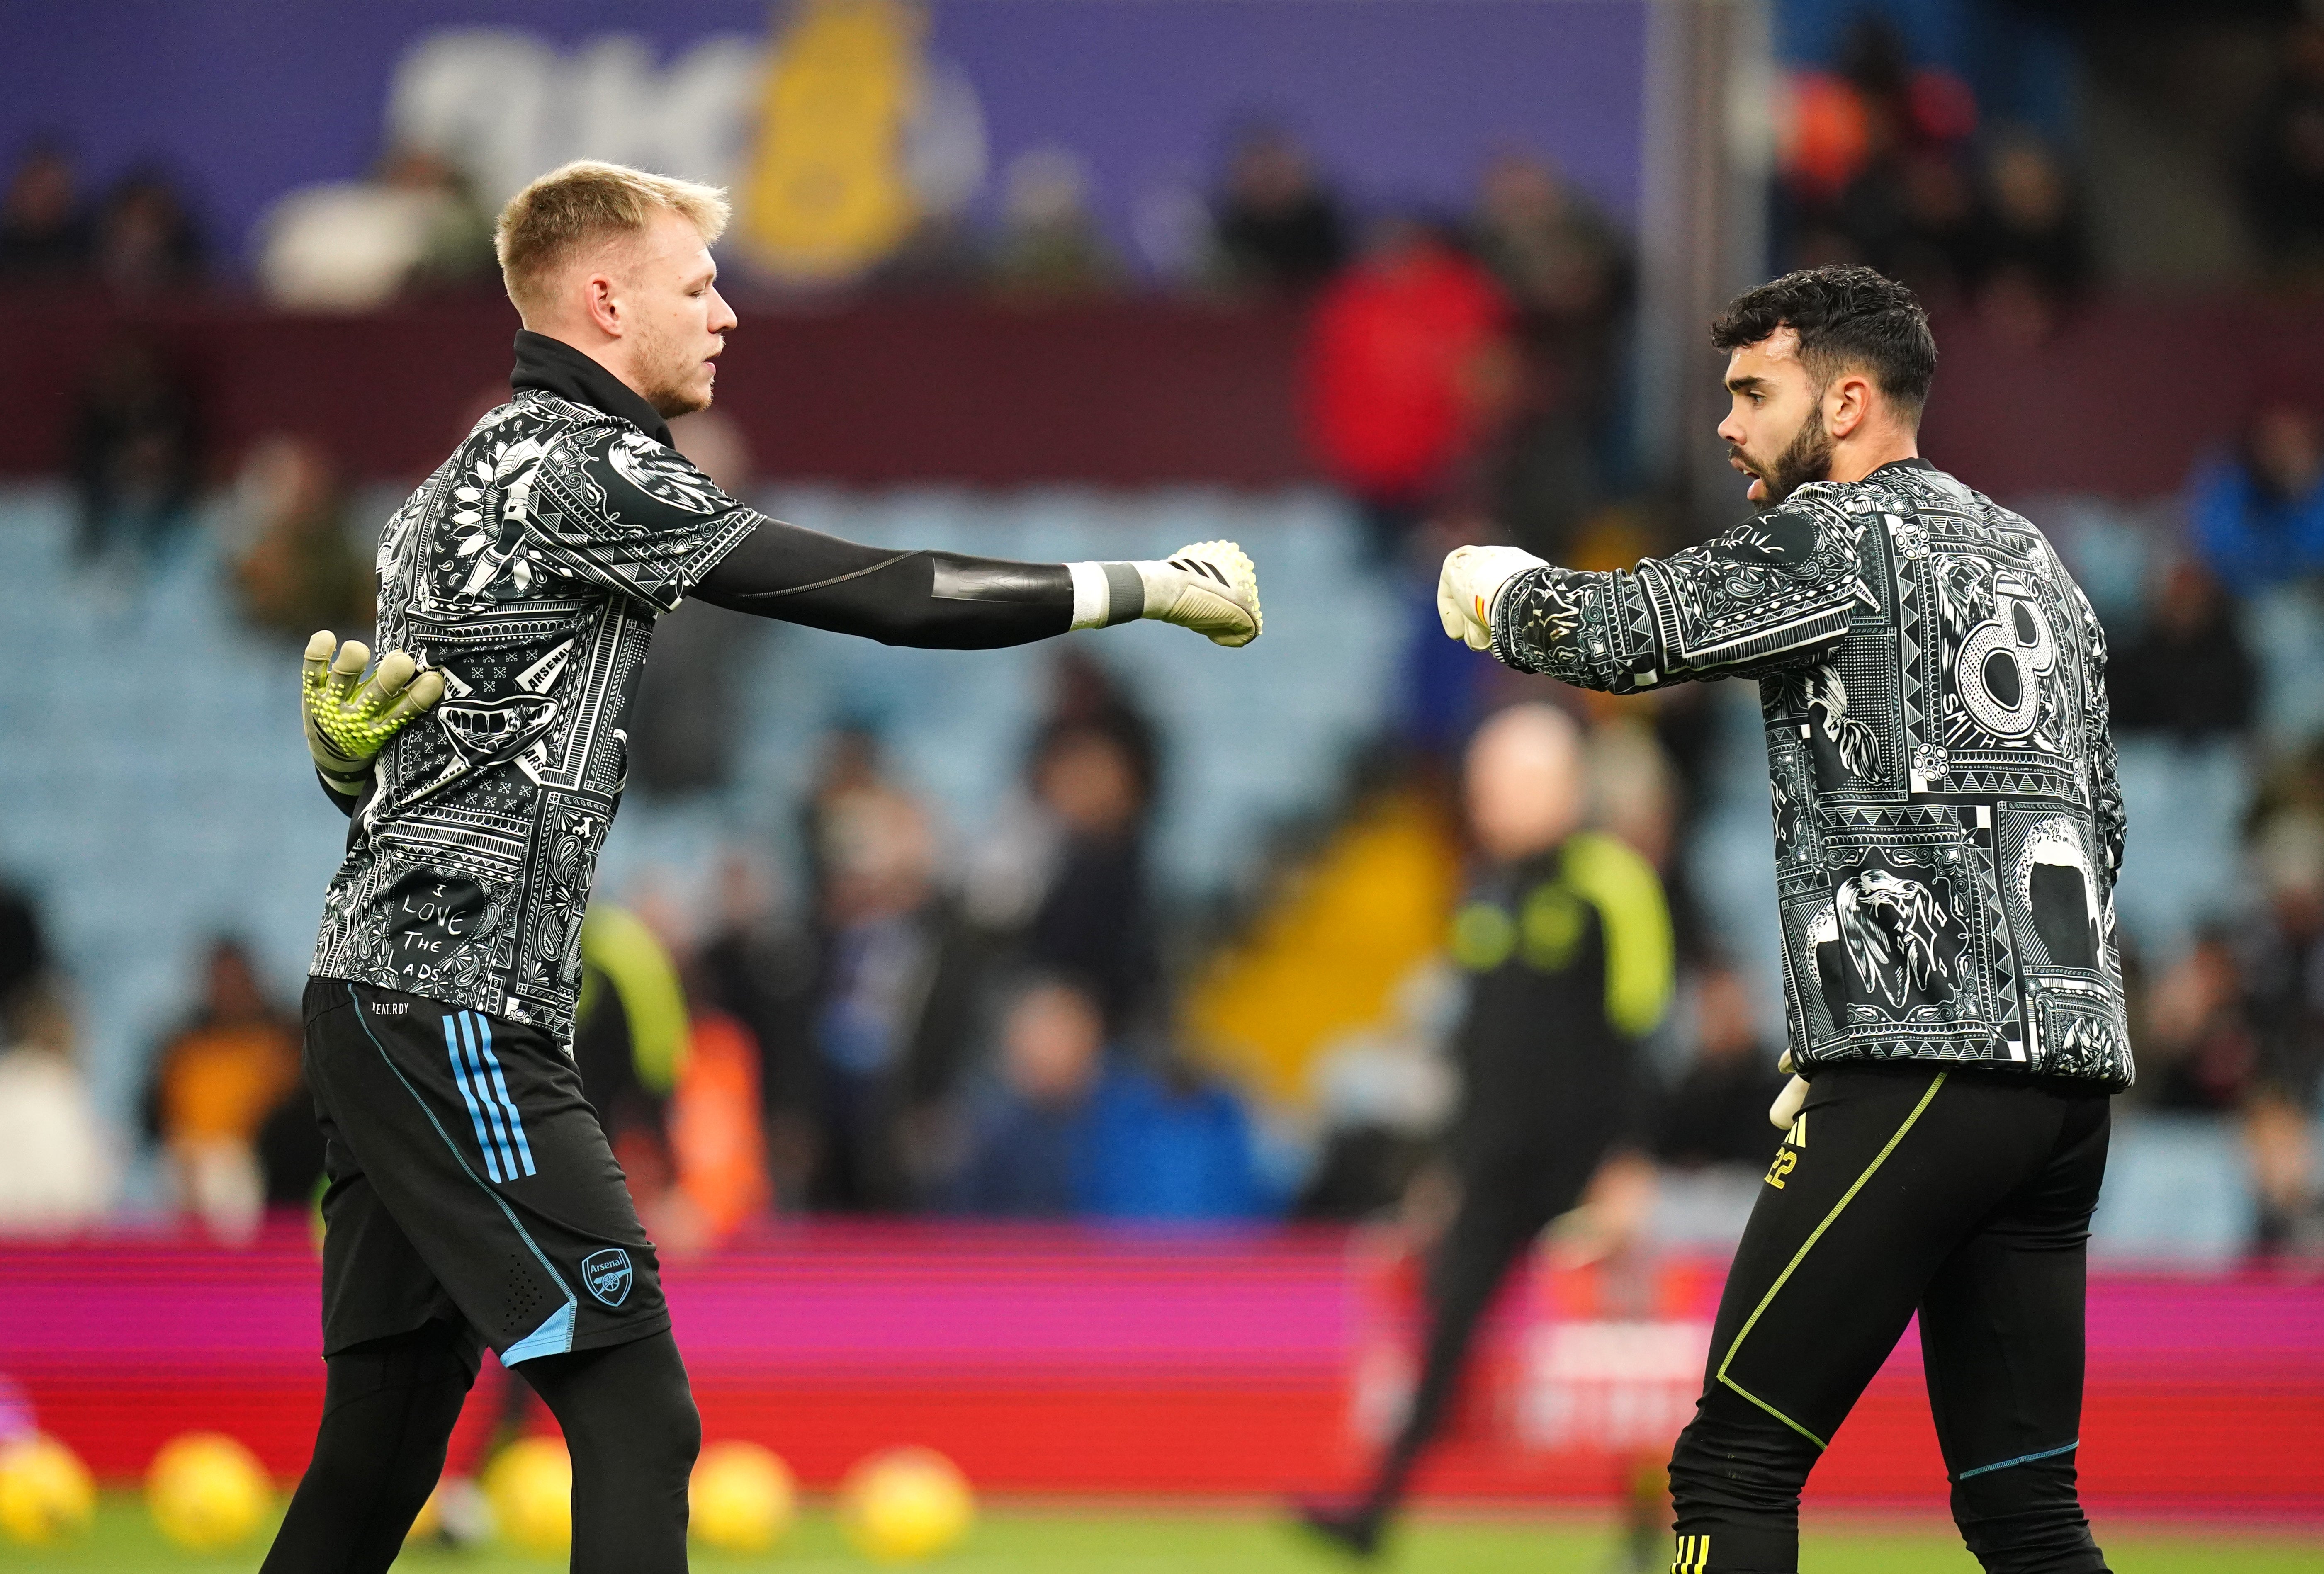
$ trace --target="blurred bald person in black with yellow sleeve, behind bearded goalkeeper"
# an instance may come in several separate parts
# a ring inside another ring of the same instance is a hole
[[[1573,721],[1513,704],[1469,744],[1466,811],[1480,872],[1452,921],[1469,974],[1455,1035],[1459,1109],[1446,1167],[1459,1202],[1427,1274],[1425,1365],[1371,1483],[1308,1504],[1308,1528],[1373,1555],[1452,1402],[1508,1272],[1548,1223],[1599,1190],[1613,1232],[1650,1190],[1638,1042],[1671,1004],[1671,918],[1652,867],[1583,830],[1587,760]]]

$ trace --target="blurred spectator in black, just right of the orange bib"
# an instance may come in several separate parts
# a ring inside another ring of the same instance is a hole
[[[816,951],[783,923],[765,870],[741,853],[718,865],[718,909],[695,949],[686,997],[748,1032],[767,1181],[776,1204],[797,1207],[816,1165]]]

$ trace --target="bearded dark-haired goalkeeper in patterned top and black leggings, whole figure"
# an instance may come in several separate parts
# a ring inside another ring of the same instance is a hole
[[[1611,572],[1462,546],[1436,602],[1580,688],[1759,679],[1799,1076],[1671,1455],[1680,1565],[1796,1567],[1801,1483],[1917,1314],[1961,1539],[1996,1574],[2096,1574],[2087,1251],[2133,1079],[2106,632],[2040,530],[1920,458],[1908,288],[1785,274],[1710,342],[1750,521]]]

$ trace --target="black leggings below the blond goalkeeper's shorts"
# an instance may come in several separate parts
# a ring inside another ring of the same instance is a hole
[[[476,1360],[474,1337],[453,1323],[332,1355],[314,1458],[260,1574],[379,1574],[395,1562],[444,1469]],[[702,1421],[669,1332],[539,1355],[516,1372],[572,1451],[574,1572],[683,1574]]]

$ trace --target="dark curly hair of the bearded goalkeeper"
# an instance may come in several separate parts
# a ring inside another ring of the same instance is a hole
[[[1929,314],[1913,291],[1871,267],[1803,267],[1743,291],[1710,323],[1710,346],[1736,351],[1778,328],[1799,335],[1799,360],[1820,384],[1862,367],[1906,416],[1929,400],[1936,379]]]

